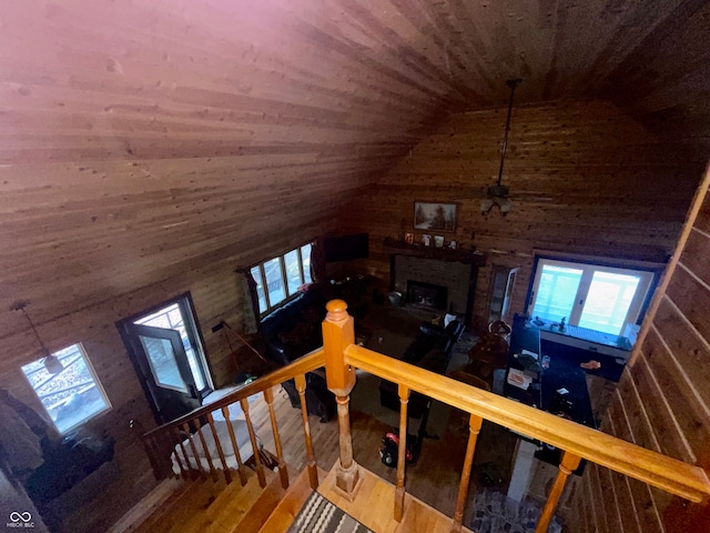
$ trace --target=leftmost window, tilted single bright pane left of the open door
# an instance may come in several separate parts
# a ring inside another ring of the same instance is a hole
[[[22,366],[30,385],[60,433],[83,424],[111,409],[81,344],[52,353],[61,370],[51,373],[44,358]]]

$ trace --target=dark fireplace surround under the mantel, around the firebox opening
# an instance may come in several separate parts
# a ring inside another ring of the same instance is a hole
[[[470,263],[459,261],[442,261],[438,259],[417,258],[412,255],[393,255],[393,286],[405,296],[408,294],[407,281],[443,285],[447,289],[445,310],[452,306],[456,314],[467,314],[470,309],[468,298],[471,282]]]

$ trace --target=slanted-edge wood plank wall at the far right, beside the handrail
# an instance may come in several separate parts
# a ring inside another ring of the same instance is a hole
[[[710,469],[710,173],[700,187],[679,261],[658,295],[635,364],[625,371],[602,431]],[[672,263],[671,263],[672,264]],[[642,332],[643,334],[643,332]],[[599,532],[710,531],[707,506],[592,467],[577,515]],[[597,481],[599,483],[597,484]],[[605,521],[619,515],[623,529]],[[592,531],[592,530],[588,530]]]

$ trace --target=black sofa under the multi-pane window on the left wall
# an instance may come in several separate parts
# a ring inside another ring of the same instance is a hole
[[[278,366],[323,345],[322,322],[325,319],[326,294],[317,284],[285,305],[276,309],[260,323],[261,335],[266,343],[266,356]],[[301,399],[294,380],[283,383],[291,404],[301,408]],[[335,396],[328,391],[325,369],[306,374],[306,406],[308,414],[321,422],[329,421],[336,412]]]

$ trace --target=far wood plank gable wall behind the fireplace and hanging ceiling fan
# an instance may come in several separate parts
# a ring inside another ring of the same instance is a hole
[[[341,231],[367,231],[364,266],[388,286],[383,239],[412,228],[415,201],[458,204],[459,247],[488,255],[480,269],[475,325],[485,323],[490,265],[520,266],[511,312],[524,309],[535,250],[665,262],[672,252],[702,163],[661,144],[606,102],[514,109],[503,183],[515,202],[483,217],[497,179],[505,109],[453,114],[343,213]],[[661,150],[661,147],[663,150]],[[424,233],[415,231],[417,238]],[[428,232],[430,233],[430,232]]]

